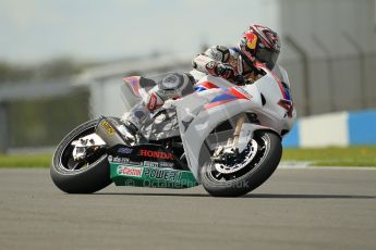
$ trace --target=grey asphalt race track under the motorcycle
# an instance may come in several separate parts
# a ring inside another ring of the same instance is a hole
[[[0,170],[0,249],[376,249],[376,170],[277,170],[242,198],[110,187],[65,195]]]

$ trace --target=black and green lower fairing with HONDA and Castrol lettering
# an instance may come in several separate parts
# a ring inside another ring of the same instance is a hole
[[[108,150],[110,178],[117,186],[189,188],[197,185],[177,155],[159,145],[118,145]]]

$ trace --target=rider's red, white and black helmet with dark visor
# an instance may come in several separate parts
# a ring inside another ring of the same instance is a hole
[[[239,42],[239,50],[247,64],[262,62],[270,70],[277,62],[280,48],[278,34],[260,25],[250,26]]]

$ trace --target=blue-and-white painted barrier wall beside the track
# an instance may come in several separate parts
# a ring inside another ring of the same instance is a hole
[[[376,109],[302,117],[283,139],[286,148],[376,146]]]

